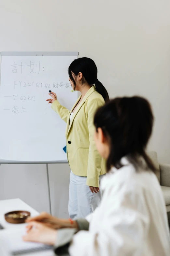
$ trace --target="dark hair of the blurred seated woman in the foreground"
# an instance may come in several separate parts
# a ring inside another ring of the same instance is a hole
[[[115,98],[97,110],[94,116],[96,131],[100,127],[110,143],[107,171],[112,166],[122,167],[120,160],[125,156],[136,168],[141,165],[139,157],[142,156],[147,169],[155,171],[145,152],[153,120],[149,102],[138,96]]]

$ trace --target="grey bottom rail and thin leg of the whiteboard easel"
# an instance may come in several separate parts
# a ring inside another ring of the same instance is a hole
[[[3,160],[0,159],[0,166],[1,164],[38,164],[38,163],[43,163],[46,164],[46,173],[47,173],[47,187],[48,187],[48,196],[49,196],[49,209],[50,209],[50,214],[51,214],[51,197],[50,197],[50,179],[49,179],[49,163],[68,163],[67,160],[63,161],[48,161],[48,162],[26,162],[26,161],[12,161],[12,160]]]

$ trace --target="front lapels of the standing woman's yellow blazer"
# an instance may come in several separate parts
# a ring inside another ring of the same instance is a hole
[[[69,133],[69,130],[73,124],[73,121],[75,119],[75,116],[77,115],[78,111],[80,110],[80,108],[82,107],[82,105],[85,103],[85,101],[87,100],[87,98],[89,97],[90,94],[92,94],[94,91],[96,91],[96,88],[95,86],[93,85],[89,91],[85,94],[84,98],[82,99],[81,103],[78,105],[77,109],[75,110],[75,112],[73,113],[72,115],[72,118],[71,118],[71,122],[68,122],[67,125],[68,125],[68,131],[67,131],[67,134]],[[70,111],[70,114],[71,112],[74,110],[74,108],[76,107],[76,105],[78,104],[79,100],[80,100],[81,96],[78,98],[77,102],[75,103],[75,105],[73,106],[72,110]],[[70,115],[69,115],[69,118],[70,118]]]

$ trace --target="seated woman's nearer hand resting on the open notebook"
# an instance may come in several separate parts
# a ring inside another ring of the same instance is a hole
[[[24,241],[54,245],[57,239],[57,230],[48,228],[42,223],[33,221],[26,227],[27,234],[23,236]]]

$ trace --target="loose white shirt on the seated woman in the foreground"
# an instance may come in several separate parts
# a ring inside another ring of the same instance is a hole
[[[165,202],[154,173],[126,166],[113,168],[102,180],[100,206],[87,216],[89,231],[79,231],[71,256],[169,256],[170,236]]]

